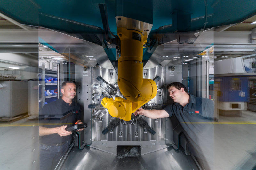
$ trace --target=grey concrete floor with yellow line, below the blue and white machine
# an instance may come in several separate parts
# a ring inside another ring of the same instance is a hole
[[[256,166],[256,112],[220,116],[214,126],[214,169],[250,170]]]

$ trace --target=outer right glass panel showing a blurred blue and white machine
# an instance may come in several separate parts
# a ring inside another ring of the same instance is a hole
[[[256,44],[242,25],[252,26],[244,22],[214,32],[215,169],[255,168]]]

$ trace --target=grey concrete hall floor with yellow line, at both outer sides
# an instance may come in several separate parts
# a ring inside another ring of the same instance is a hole
[[[0,123],[0,169],[39,169],[37,121]],[[250,170],[256,166],[256,112],[220,116],[214,125],[214,169]]]

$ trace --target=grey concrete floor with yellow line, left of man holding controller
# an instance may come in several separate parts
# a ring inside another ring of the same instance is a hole
[[[0,123],[0,169],[39,169],[38,121]]]

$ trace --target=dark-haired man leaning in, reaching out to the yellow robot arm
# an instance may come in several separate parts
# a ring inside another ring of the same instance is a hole
[[[175,103],[162,110],[139,108],[134,114],[152,119],[174,116],[188,139],[190,152],[204,169],[213,169],[213,101],[189,94],[180,82],[168,84],[167,88]]]

